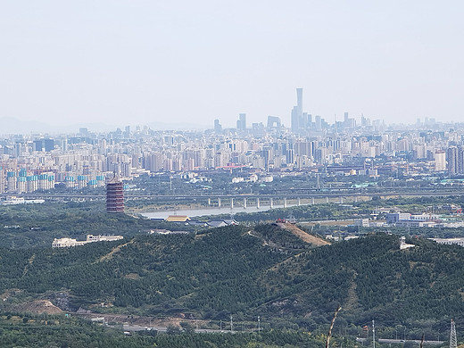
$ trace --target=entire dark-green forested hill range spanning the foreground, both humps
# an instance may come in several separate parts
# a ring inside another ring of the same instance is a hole
[[[1,249],[0,294],[8,294],[2,306],[68,294],[70,310],[217,320],[260,315],[306,327],[327,323],[339,304],[344,326],[462,317],[464,249],[410,243],[417,246],[400,251],[397,236],[372,235],[313,248],[259,225],[65,250]]]

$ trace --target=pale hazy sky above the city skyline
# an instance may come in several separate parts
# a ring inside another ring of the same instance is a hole
[[[0,0],[0,118],[464,121],[464,2]],[[1,126],[0,126],[1,128]]]

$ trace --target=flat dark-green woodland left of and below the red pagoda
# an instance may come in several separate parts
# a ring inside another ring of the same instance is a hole
[[[11,249],[51,247],[54,238],[85,239],[87,234],[146,235],[155,228],[195,230],[127,214],[109,214],[103,203],[0,205],[0,247]]]

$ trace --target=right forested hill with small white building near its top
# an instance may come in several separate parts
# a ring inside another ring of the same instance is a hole
[[[320,247],[267,272],[262,281],[280,287],[279,301],[301,316],[324,316],[338,304],[342,317],[357,324],[462,315],[464,249],[423,239],[410,243],[417,246],[400,250],[397,236],[372,235]]]

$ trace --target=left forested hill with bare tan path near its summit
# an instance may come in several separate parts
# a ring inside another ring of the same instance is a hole
[[[297,237],[281,234],[277,227],[253,232],[229,227],[196,236],[139,236],[65,250],[3,249],[0,291],[70,290],[75,306],[109,302],[144,307],[152,314],[244,311],[267,295],[256,282],[261,272],[306,247]]]

